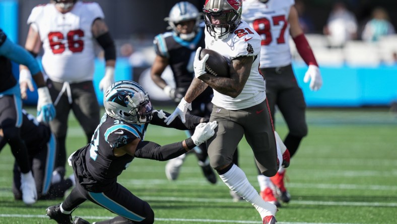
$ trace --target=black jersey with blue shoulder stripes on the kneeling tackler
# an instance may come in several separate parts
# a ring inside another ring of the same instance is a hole
[[[134,125],[104,115],[91,139],[91,143],[76,153],[74,170],[80,184],[92,192],[105,191],[116,182],[133,156],[114,156],[113,148],[124,146],[137,138],[144,139],[147,124]]]

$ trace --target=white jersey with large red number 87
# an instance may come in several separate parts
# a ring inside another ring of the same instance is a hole
[[[245,0],[241,18],[262,38],[260,68],[281,67],[291,64],[288,16],[294,0]]]

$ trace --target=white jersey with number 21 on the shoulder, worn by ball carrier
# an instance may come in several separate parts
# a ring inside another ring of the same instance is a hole
[[[206,48],[215,50],[224,57],[233,60],[240,56],[254,56],[248,80],[236,98],[224,95],[214,89],[212,102],[225,109],[244,109],[261,103],[266,99],[263,76],[259,73],[260,36],[241,21],[238,27],[227,38],[215,40],[206,29]]]

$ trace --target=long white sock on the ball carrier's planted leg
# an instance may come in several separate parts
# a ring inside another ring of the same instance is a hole
[[[233,164],[228,172],[219,175],[219,177],[230,190],[236,192],[246,201],[250,202],[259,212],[262,219],[264,216],[276,214],[276,205],[263,201],[255,188],[248,182],[244,172],[237,165]]]

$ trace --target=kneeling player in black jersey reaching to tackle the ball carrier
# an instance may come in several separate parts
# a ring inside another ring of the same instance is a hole
[[[153,223],[154,212],[149,203],[118,184],[117,176],[135,158],[168,160],[175,158],[214,135],[217,123],[189,115],[186,122],[176,120],[171,127],[188,130],[193,135],[181,142],[159,145],[144,141],[149,124],[167,127],[167,115],[153,110],[149,95],[136,82],[113,83],[104,95],[106,113],[98,125],[91,143],[69,157],[76,178],[76,187],[60,205],[47,208],[47,215],[58,223],[71,223],[72,211],[90,200],[118,216],[100,223]],[[74,223],[88,223],[76,217]]]

